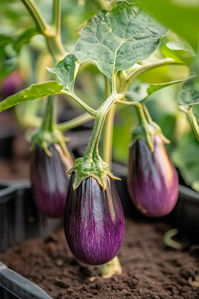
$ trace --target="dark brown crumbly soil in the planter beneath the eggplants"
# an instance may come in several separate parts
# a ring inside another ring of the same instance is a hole
[[[99,267],[75,260],[62,229],[45,241],[14,246],[0,260],[55,299],[198,299],[199,288],[188,281],[199,269],[198,250],[190,251],[187,245],[187,251],[166,250],[162,236],[168,229],[163,224],[127,220],[118,254],[123,273],[106,280],[100,277]]]

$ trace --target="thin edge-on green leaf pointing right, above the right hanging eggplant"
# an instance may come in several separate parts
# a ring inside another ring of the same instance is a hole
[[[197,74],[193,73],[189,78],[166,82],[166,83],[158,83],[158,84],[141,83],[140,85],[137,85],[132,89],[130,89],[129,91],[127,91],[127,97],[129,97],[133,102],[142,102],[146,100],[146,98],[149,97],[150,94],[154,93],[155,91],[158,91],[159,89],[184,82],[185,80],[188,80],[196,76]]]

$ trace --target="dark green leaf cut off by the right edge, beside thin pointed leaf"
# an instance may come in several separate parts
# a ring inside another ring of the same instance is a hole
[[[198,80],[190,79],[183,84],[178,102],[181,110],[184,112],[188,112],[192,105],[199,104]]]

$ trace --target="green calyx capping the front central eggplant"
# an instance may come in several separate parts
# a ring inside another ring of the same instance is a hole
[[[89,159],[85,157],[77,158],[75,160],[74,166],[67,171],[67,173],[72,174],[75,172],[75,181],[73,183],[73,189],[77,189],[81,182],[90,176],[96,179],[99,185],[106,190],[107,188],[107,176],[114,180],[120,180],[119,178],[113,176],[110,171],[109,165],[104,162],[101,158]]]

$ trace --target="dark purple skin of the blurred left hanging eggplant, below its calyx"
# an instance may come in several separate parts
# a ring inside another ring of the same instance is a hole
[[[72,167],[72,160],[64,156],[58,145],[48,148],[49,157],[39,146],[31,153],[30,180],[35,204],[47,217],[64,216],[67,188],[70,175],[65,171]]]

